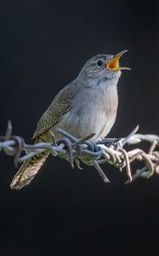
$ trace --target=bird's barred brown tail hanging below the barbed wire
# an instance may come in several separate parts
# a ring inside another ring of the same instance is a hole
[[[31,180],[36,176],[37,172],[43,166],[48,154],[48,151],[44,151],[40,154],[36,154],[33,158],[26,160],[15,174],[10,184],[11,189],[22,189],[31,183]]]

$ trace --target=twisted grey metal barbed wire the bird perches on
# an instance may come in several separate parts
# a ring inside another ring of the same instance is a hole
[[[19,163],[47,150],[54,157],[59,156],[68,160],[72,168],[76,163],[77,167],[82,169],[81,162],[94,166],[105,183],[110,180],[105,176],[100,165],[108,163],[116,166],[120,172],[125,169],[128,175],[126,183],[131,183],[138,177],[149,178],[154,173],[159,174],[159,151],[157,151],[159,136],[138,134],[136,133],[138,130],[139,125],[127,137],[104,138],[93,142],[91,137],[94,137],[94,134],[78,139],[59,128],[62,138],[56,140],[54,134],[50,132],[53,142],[27,144],[23,137],[12,135],[12,125],[9,121],[5,136],[0,136],[0,151],[14,156],[14,166],[17,167]],[[136,145],[141,142],[150,144],[147,152],[142,148],[131,150],[124,148],[126,145]],[[21,156],[24,152],[25,155]],[[143,161],[144,166],[132,171],[131,164],[136,160]]]

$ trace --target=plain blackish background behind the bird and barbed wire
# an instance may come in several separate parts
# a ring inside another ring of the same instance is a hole
[[[0,132],[8,119],[30,142],[43,111],[93,55],[122,49],[120,104],[110,137],[139,124],[158,134],[157,1],[1,1]],[[71,170],[49,158],[33,182],[9,189],[13,158],[0,155],[0,255],[158,255],[159,177],[124,185],[103,166]]]

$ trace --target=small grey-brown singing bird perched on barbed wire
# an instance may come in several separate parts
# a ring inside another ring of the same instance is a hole
[[[116,55],[94,55],[82,67],[77,78],[65,85],[54,97],[37,123],[34,143],[51,142],[60,138],[57,128],[77,138],[94,134],[93,141],[102,139],[111,131],[118,107],[117,83],[122,70],[119,60],[127,49]],[[48,151],[26,160],[15,174],[10,187],[22,189],[35,177],[48,158]]]

